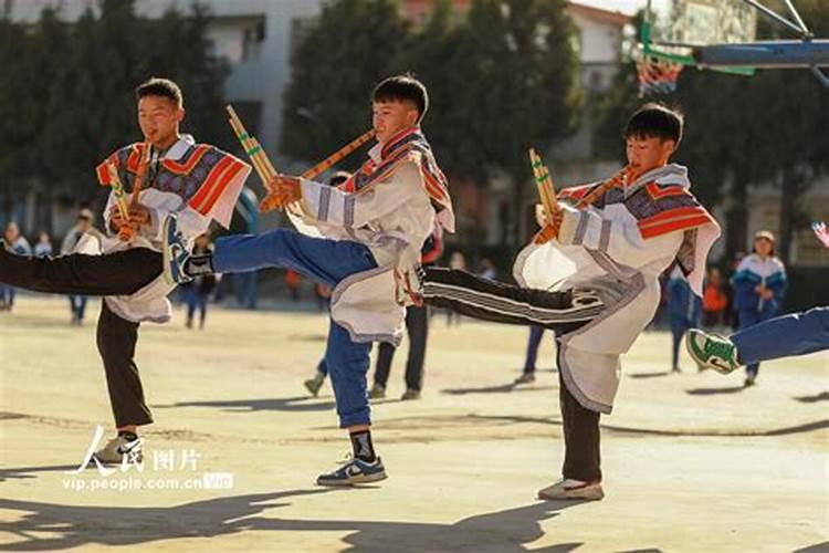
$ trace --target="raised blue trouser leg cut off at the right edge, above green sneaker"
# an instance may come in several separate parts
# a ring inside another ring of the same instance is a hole
[[[737,345],[739,361],[749,366],[829,349],[829,307],[776,316],[741,330],[731,340]]]

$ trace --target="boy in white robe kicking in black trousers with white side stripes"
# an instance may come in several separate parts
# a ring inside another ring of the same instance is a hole
[[[565,458],[562,479],[539,490],[542,499],[604,497],[599,416],[612,409],[619,356],[655,313],[665,269],[678,263],[702,295],[720,228],[692,196],[685,167],[669,164],[682,127],[681,114],[667,107],[638,109],[625,129],[629,165],[610,181],[559,194],[555,220],[542,221],[517,257],[520,286],[448,269],[422,274],[429,304],[556,332]],[[586,198],[589,206],[574,208]]]

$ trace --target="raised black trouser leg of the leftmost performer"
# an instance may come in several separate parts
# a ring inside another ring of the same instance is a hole
[[[129,295],[161,274],[161,254],[135,248],[104,255],[15,255],[0,248],[0,282],[33,292]]]

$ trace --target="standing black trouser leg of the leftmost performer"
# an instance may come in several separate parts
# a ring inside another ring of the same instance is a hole
[[[149,425],[153,415],[144,399],[144,387],[135,364],[138,323],[126,321],[101,302],[97,346],[106,373],[106,387],[113,407],[115,426]]]

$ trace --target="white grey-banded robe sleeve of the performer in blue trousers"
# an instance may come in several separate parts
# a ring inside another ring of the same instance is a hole
[[[422,177],[414,164],[403,164],[389,178],[365,192],[347,194],[329,186],[302,179],[306,215],[318,222],[359,228],[390,213],[403,204],[424,196]]]

